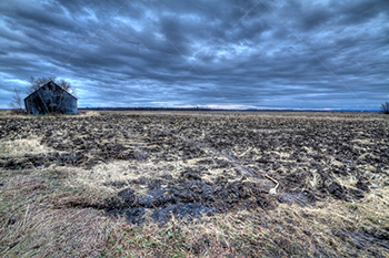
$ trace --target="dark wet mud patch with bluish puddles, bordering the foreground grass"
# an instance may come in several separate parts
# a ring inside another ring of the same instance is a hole
[[[130,185],[138,182],[130,182]],[[118,184],[118,183],[117,183]],[[127,183],[128,184],[128,183]],[[276,206],[275,198],[268,196],[262,185],[251,182],[228,182],[218,178],[215,183],[200,179],[147,180],[147,195],[137,196],[130,187],[118,193],[101,205],[108,214],[124,214],[130,223],[142,223],[148,213],[158,223],[168,221],[171,216],[192,220],[215,213],[233,209]]]

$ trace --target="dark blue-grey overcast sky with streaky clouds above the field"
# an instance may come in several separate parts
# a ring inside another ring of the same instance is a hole
[[[1,0],[0,109],[30,76],[79,106],[379,109],[388,0]]]

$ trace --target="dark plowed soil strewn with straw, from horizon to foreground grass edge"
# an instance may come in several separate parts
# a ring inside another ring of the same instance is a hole
[[[56,164],[92,173],[99,164],[132,164],[136,178],[123,175],[126,179],[101,183],[114,196],[79,205],[126,215],[134,224],[144,217],[164,223],[171,216],[191,220],[229,210],[272,209],[280,203],[353,202],[371,190],[372,179],[389,172],[386,120],[108,113],[9,117],[0,121],[0,128],[2,140],[33,135],[52,149],[3,157],[3,169]],[[355,183],[343,185],[341,178],[350,175]]]

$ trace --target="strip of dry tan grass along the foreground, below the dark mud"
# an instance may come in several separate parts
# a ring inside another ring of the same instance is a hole
[[[355,204],[333,199],[317,203],[316,207],[281,204],[268,211],[233,211],[192,223],[173,219],[164,226],[149,220],[134,226],[121,218],[107,218],[100,210],[77,206],[98,202],[101,193],[93,192],[96,186],[77,185],[79,172],[74,169],[3,175],[9,179],[0,192],[2,257],[389,255],[373,242],[361,250],[352,245],[366,241],[356,235],[358,231],[389,227],[388,187],[377,188]]]

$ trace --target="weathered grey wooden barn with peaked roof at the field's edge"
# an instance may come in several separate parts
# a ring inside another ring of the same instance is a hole
[[[78,114],[77,97],[50,81],[24,99],[28,114]]]

